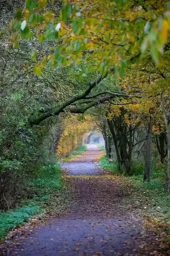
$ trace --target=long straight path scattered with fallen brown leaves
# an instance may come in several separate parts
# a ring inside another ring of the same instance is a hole
[[[63,163],[72,198],[67,208],[13,230],[1,255],[170,255],[165,225],[146,209],[147,195],[126,177],[101,170],[102,154],[90,144]]]

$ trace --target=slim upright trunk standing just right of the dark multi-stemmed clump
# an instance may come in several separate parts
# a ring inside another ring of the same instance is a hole
[[[146,153],[145,153],[145,170],[143,181],[150,181],[150,169],[151,169],[151,158],[152,158],[152,117],[149,118]]]

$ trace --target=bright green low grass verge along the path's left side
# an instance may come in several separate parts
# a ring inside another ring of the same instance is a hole
[[[43,212],[50,204],[51,194],[63,187],[59,164],[49,163],[42,166],[28,179],[27,186],[33,195],[32,199],[22,200],[20,208],[16,210],[0,213],[0,238],[3,238],[10,229],[24,223],[30,216]]]

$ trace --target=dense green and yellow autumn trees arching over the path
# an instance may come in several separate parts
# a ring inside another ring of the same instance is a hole
[[[169,3],[6,0],[0,27],[0,209],[93,129],[121,173],[157,168],[170,193]]]

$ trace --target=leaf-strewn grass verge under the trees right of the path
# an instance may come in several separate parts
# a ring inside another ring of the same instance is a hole
[[[117,163],[113,160],[108,160],[103,156],[100,160],[101,168],[110,170],[113,174],[123,175],[123,171],[119,172]],[[167,189],[166,166],[162,164],[152,164],[151,181],[143,182],[144,164],[134,161],[132,163],[132,175],[125,178],[134,186],[133,200],[138,200],[139,195],[143,197],[146,208],[150,214],[170,217],[170,197]]]

